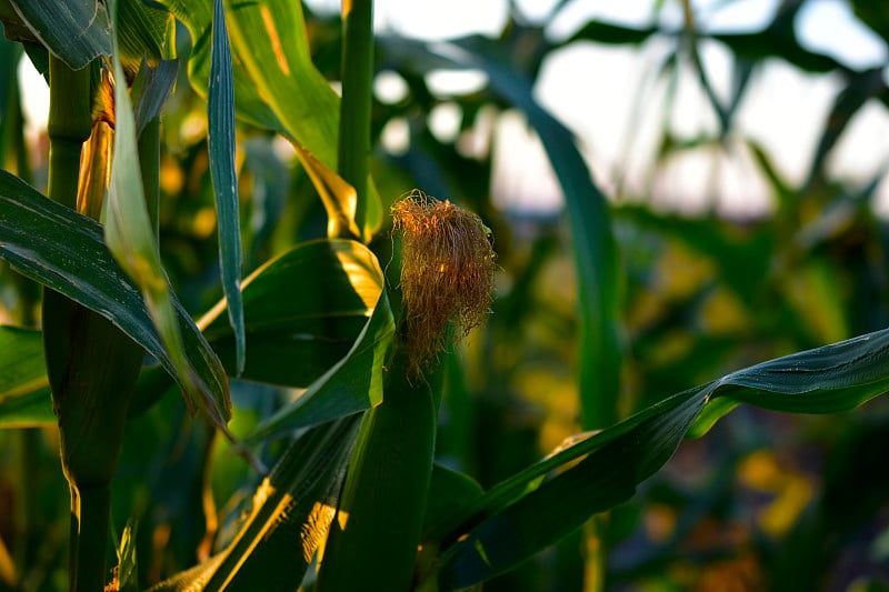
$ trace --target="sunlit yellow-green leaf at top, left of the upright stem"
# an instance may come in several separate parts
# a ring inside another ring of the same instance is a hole
[[[210,0],[162,0],[162,3],[191,33],[194,46],[189,79],[198,93],[206,96],[212,47]],[[336,175],[339,98],[311,61],[301,4],[270,0],[230,3],[227,22],[238,117],[279,131],[293,143],[321,195],[328,192],[332,198],[324,200],[328,217],[338,224],[338,233],[330,233],[331,237],[369,238],[383,217],[373,183],[368,192],[362,229],[354,228],[357,204],[351,185],[340,179],[338,184],[343,190],[330,193],[330,183],[318,184]]]

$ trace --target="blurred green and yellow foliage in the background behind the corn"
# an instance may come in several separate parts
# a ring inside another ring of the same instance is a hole
[[[885,169],[852,182],[829,167],[856,117],[889,107],[886,70],[858,70],[805,49],[793,22],[806,3],[781,2],[762,30],[710,33],[697,29],[692,7],[657,2],[651,26],[593,20],[560,40],[546,34],[548,20],[513,10],[497,39],[491,58],[531,82],[566,47],[669,48],[656,67],[667,100],[650,100],[645,88],[626,98],[639,113],[655,111],[660,119],[656,154],[641,179],[617,174],[607,187],[622,265],[622,284],[608,287],[620,294],[621,418],[731,370],[887,327],[889,225],[875,209]],[[567,4],[558,3],[547,19]],[[683,26],[658,24],[658,11],[670,4],[685,9]],[[881,2],[850,6],[889,42]],[[306,16],[316,64],[336,81],[339,18],[309,7]],[[191,43],[184,29],[178,42],[184,58]],[[472,38],[455,43],[492,47]],[[730,57],[727,97],[713,91],[716,74],[700,58],[703,43]],[[4,168],[42,188],[46,139],[23,133],[17,48],[0,46],[0,157]],[[485,83],[468,92],[437,90],[430,72],[407,63],[391,37],[380,39],[376,59],[372,169],[384,205],[418,187],[472,209],[493,231],[498,299],[487,325],[447,360],[437,442],[439,460],[488,488],[581,430],[577,375],[585,361],[577,357],[571,237],[558,209],[509,205],[512,185],[502,175],[523,163],[510,162],[505,173],[503,160],[513,157],[497,129],[505,120],[527,126],[515,107]],[[769,149],[736,124],[758,72],[775,62],[840,81],[827,118],[815,122],[817,144],[801,180],[788,180]],[[577,77],[595,78],[596,71]],[[607,91],[608,81],[600,83]],[[693,137],[678,129],[671,108],[689,84],[706,97],[701,109],[718,123]],[[437,128],[434,113],[442,109],[456,113],[456,130]],[[172,284],[194,317],[221,295],[204,113],[180,69],[162,127],[160,242]],[[881,140],[857,149],[881,149],[889,159]],[[323,237],[326,215],[280,138],[241,126],[239,141],[247,274],[299,241]],[[702,208],[662,207],[656,193],[663,171],[700,150],[715,162],[746,158],[747,174],[765,182],[771,207],[752,217],[725,214],[717,207],[718,175],[707,169],[696,187],[707,195]],[[597,178],[612,174],[592,169]],[[372,247],[390,249],[388,228]],[[38,299],[39,290],[0,268],[0,321],[38,327]],[[247,433],[292,395],[234,381],[232,432]],[[608,590],[889,590],[887,405],[880,398],[828,417],[742,407],[706,438],[687,441],[631,502],[597,516],[601,539],[581,530],[483,588],[582,590],[585,582],[601,581]],[[258,478],[203,422],[188,418],[174,393],[141,410],[128,428],[113,523],[120,532],[136,519],[139,581],[148,585],[206,559]],[[67,495],[51,425],[0,431],[0,588],[12,589],[12,581],[16,590],[64,588]],[[605,573],[590,573],[585,558],[602,550]]]

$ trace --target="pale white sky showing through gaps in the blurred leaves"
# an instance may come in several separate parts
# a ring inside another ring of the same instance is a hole
[[[321,10],[339,10],[339,0],[310,0]],[[541,20],[556,0],[517,0],[530,20]],[[653,0],[569,2],[553,19],[547,33],[565,38],[591,18],[639,26],[650,22]],[[767,24],[779,0],[697,0],[699,24],[710,31],[757,30]],[[376,0],[374,27],[379,32],[428,40],[468,33],[497,34],[508,10],[507,0]],[[676,0],[668,0],[661,14],[666,26],[680,27]],[[858,23],[842,0],[816,0],[800,14],[798,34],[809,49],[833,56],[853,68],[889,63],[886,43]],[[670,48],[651,41],[636,48],[577,43],[552,54],[538,81],[538,99],[572,129],[607,193],[622,184],[629,193],[645,193],[650,178],[657,133],[663,121],[667,89],[656,77],[656,67]],[[718,94],[728,94],[730,56],[718,43],[705,43],[702,59]],[[29,66],[29,64],[28,64]],[[31,93],[24,101],[26,117],[36,126],[46,123],[46,86],[30,68],[20,69]],[[889,68],[886,70],[889,76]],[[578,76],[581,73],[581,76]],[[483,83],[483,77],[438,72],[433,89],[453,92]],[[602,84],[601,81],[607,81]],[[389,84],[392,84],[390,81]],[[397,83],[389,91],[398,92]],[[384,91],[384,88],[379,87]],[[760,142],[776,167],[791,183],[805,177],[811,153],[823,128],[840,81],[828,76],[807,76],[783,62],[768,63],[753,81],[738,114],[739,138]],[[441,137],[455,133],[459,112],[438,109],[433,130]],[[670,114],[673,131],[683,137],[713,131],[716,119],[701,94],[695,74],[682,71],[679,94]],[[496,130],[495,179],[497,199],[506,207],[549,210],[560,204],[559,189],[539,142],[527,133],[522,120],[509,114],[480,126]],[[384,142],[393,150],[403,142],[403,124],[394,122]],[[463,139],[471,143],[472,139]],[[497,148],[497,147],[500,148]],[[505,149],[503,147],[508,147]],[[840,140],[830,161],[838,179],[865,184],[889,165],[889,113],[876,102],[866,106]],[[766,184],[758,178],[742,142],[730,154],[697,150],[675,159],[653,178],[655,203],[665,209],[693,212],[709,199],[709,183],[718,183],[718,209],[725,213],[755,215],[771,204]],[[879,210],[889,214],[889,182],[880,189]]]

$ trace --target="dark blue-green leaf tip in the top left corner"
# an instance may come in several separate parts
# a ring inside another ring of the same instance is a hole
[[[72,70],[111,54],[111,27],[99,0],[10,0],[34,38]]]

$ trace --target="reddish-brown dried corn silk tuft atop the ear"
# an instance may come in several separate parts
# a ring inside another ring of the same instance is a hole
[[[397,201],[392,220],[402,238],[404,345],[419,374],[444,350],[448,321],[462,339],[485,320],[497,255],[478,215],[422,191]]]

